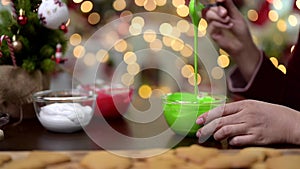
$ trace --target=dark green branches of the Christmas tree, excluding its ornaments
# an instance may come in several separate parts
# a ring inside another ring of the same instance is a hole
[[[38,18],[37,9],[41,0],[15,0],[16,14],[19,10],[25,11],[28,21],[20,25],[12,11],[0,10],[0,36],[7,35],[22,44],[21,50],[15,50],[17,66],[32,72],[41,70],[51,72],[55,69],[56,62],[52,59],[55,56],[56,45],[62,45],[62,53],[67,50],[67,39],[62,30],[53,30],[44,27]],[[3,42],[0,50],[3,56],[0,58],[0,65],[12,65],[7,43]]]

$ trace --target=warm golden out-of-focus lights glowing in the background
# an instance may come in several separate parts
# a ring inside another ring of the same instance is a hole
[[[246,1],[247,2],[247,1]],[[268,0],[270,4],[270,10],[268,11],[269,22],[276,25],[279,32],[287,32],[289,29],[297,29],[299,27],[300,17],[299,11],[292,12],[293,9],[289,10],[287,20],[281,17],[281,12],[284,9],[286,0]],[[93,12],[95,8],[93,1],[82,1],[73,0],[73,3],[80,4],[80,10],[83,14],[88,14],[87,21],[90,25],[97,25],[100,23],[104,16],[100,15],[98,12]],[[295,2],[296,11],[300,9],[300,0]],[[132,10],[131,10],[132,8]],[[170,23],[162,23],[159,27],[159,32],[155,32],[152,29],[145,29],[145,20],[140,16],[133,17],[136,9],[143,9],[144,11],[161,11],[162,8],[166,8],[165,12],[177,15],[182,19],[178,21],[175,25]],[[178,52],[183,58],[190,58],[193,55],[193,49],[189,44],[186,44],[182,39],[181,35],[193,36],[193,25],[189,22],[189,9],[184,0],[114,0],[112,2],[111,10],[113,10],[116,16],[111,16],[112,18],[120,18],[124,16],[132,16],[130,22],[124,22],[118,25],[117,31],[111,31],[107,34],[105,41],[107,44],[111,44],[115,39],[118,39],[122,35],[138,36],[141,35],[141,41],[147,44],[151,50],[154,52],[160,51],[164,48],[168,50],[173,50]],[[111,13],[111,10],[108,10]],[[104,14],[105,15],[105,14]],[[249,8],[246,11],[245,17],[249,22],[256,22],[259,20],[260,15],[258,9]],[[206,35],[207,22],[201,19],[199,23],[198,36],[202,37]],[[298,28],[299,29],[299,28]],[[84,58],[84,63],[89,65],[94,65],[97,62],[106,63],[110,58],[110,51],[99,49],[95,54],[86,53],[85,48],[82,45],[83,35],[79,33],[73,33],[70,35],[70,45],[73,46],[73,55],[76,58]],[[259,45],[259,37],[254,36],[253,39]],[[283,43],[280,38],[273,37],[274,44]],[[140,72],[141,65],[137,62],[137,55],[130,42],[126,39],[120,39],[118,43],[114,44],[113,49],[115,52],[121,53],[123,56],[123,61],[127,64],[127,72],[122,75],[121,81],[124,85],[130,86],[134,83],[134,77]],[[291,48],[292,52],[292,48]],[[223,69],[230,66],[230,56],[222,49],[219,50],[220,56],[217,59],[218,67],[215,67],[210,72],[212,77],[215,79],[221,79],[223,74]],[[270,57],[272,63],[281,71],[286,73],[286,68],[283,64],[279,64],[278,58]],[[194,85],[195,74],[193,66],[190,63],[185,65],[177,66],[183,78],[187,79],[190,85]],[[201,83],[201,75],[198,76],[198,84]],[[154,90],[160,89],[161,93],[169,92],[170,89],[165,86],[150,86],[148,84],[142,84],[139,87],[138,93],[141,98],[147,99],[151,96]]]

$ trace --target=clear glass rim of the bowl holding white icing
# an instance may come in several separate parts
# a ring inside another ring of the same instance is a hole
[[[57,94],[82,94],[82,96],[47,96],[50,93],[57,93]],[[34,93],[32,95],[34,101],[81,101],[81,100],[90,100],[95,99],[97,94],[95,94],[92,90],[82,90],[82,89],[49,89],[49,90],[42,90]]]

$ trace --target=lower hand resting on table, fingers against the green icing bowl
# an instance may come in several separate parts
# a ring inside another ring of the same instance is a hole
[[[255,100],[228,103],[199,116],[196,123],[205,124],[197,132],[200,142],[213,134],[234,146],[300,144],[300,112],[281,105]]]

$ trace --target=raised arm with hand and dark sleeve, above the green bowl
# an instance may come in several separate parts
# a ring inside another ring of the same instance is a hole
[[[255,46],[248,25],[232,0],[217,1],[224,6],[209,8],[204,17],[212,39],[236,62],[236,71],[229,75],[229,89],[246,98],[300,110],[300,38],[285,75]]]

